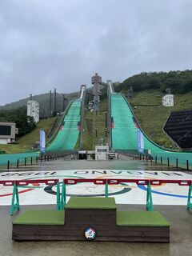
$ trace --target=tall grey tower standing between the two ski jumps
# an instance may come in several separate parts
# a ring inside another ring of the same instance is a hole
[[[98,73],[95,73],[95,75],[91,78],[91,83],[94,85],[94,111],[98,111],[100,96],[102,95],[102,93],[100,92],[100,84],[102,84],[102,77],[100,77]]]

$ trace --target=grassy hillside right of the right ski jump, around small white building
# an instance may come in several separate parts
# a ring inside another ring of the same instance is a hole
[[[192,92],[187,94],[174,94],[174,106],[162,106],[162,92],[159,90],[144,90],[134,94],[129,102],[134,110],[142,130],[159,145],[174,148],[174,144],[163,132],[170,112],[173,110],[192,109]]]

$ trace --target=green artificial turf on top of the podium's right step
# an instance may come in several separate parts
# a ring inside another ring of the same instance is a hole
[[[158,211],[117,211],[118,226],[170,226]]]

